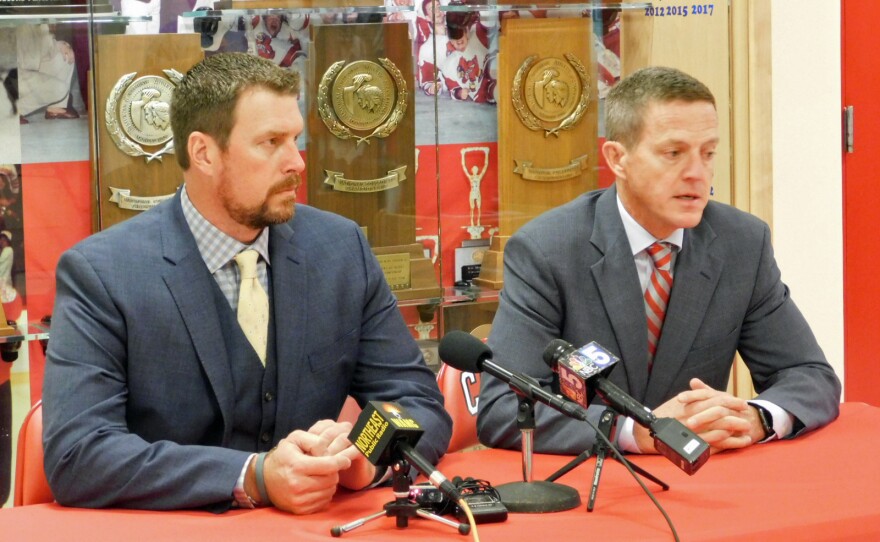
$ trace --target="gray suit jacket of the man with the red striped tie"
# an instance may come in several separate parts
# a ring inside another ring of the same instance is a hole
[[[840,382],[780,280],[769,228],[716,202],[697,227],[685,230],[649,376],[643,293],[616,195],[613,186],[584,194],[508,241],[504,288],[489,337],[496,362],[558,390],[542,360],[547,344],[555,338],[575,346],[596,341],[621,358],[611,381],[655,408],[689,389],[693,377],[726,389],[739,351],[759,397],[796,417],[795,434],[834,420]],[[506,384],[483,376],[481,441],[519,447],[516,404]],[[594,421],[600,410],[591,406]],[[580,453],[593,443],[595,435],[583,422],[543,405],[536,417],[536,451]]]

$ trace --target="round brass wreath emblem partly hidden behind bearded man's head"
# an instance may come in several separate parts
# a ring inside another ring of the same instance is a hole
[[[171,94],[183,79],[177,70],[163,70],[167,79],[157,75],[137,77],[137,72],[119,78],[107,97],[104,124],[110,139],[129,156],[143,156],[147,162],[161,161],[163,154],[174,154],[171,133]],[[159,146],[150,152],[141,145]]]

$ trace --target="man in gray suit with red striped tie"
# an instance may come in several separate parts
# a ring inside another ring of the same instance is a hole
[[[557,338],[596,341],[622,360],[612,382],[713,451],[834,420],[840,382],[780,280],[769,228],[709,201],[719,144],[709,89],[678,70],[646,68],[612,89],[605,107],[602,152],[616,182],[511,237],[489,337],[495,359],[558,390],[544,348]],[[737,351],[758,392],[750,401],[725,391]],[[519,447],[515,394],[484,375],[479,406],[480,439]],[[595,440],[586,424],[543,405],[535,415],[537,451],[580,453]],[[624,450],[656,453],[631,419],[618,419],[617,436]]]

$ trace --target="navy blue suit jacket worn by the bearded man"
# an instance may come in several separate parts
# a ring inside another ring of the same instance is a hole
[[[180,509],[228,504],[248,455],[233,450],[230,361],[217,289],[179,195],[94,235],[58,263],[44,403],[45,469],[58,502]],[[398,401],[446,450],[434,375],[360,228],[299,205],[270,228],[276,307],[273,443],[335,419],[347,395]]]

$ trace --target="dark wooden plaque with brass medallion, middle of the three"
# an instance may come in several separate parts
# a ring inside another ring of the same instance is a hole
[[[315,25],[309,51],[309,204],[415,242],[415,103],[407,23]]]

